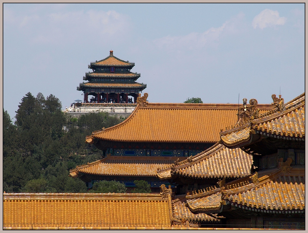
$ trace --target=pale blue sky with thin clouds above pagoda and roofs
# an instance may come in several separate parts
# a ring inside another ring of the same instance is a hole
[[[13,118],[28,92],[63,109],[83,99],[110,50],[135,63],[149,102],[288,102],[305,91],[304,20],[304,3],[5,3],[3,108]]]

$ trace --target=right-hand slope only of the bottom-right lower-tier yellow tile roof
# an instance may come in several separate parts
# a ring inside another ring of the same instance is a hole
[[[276,169],[276,172],[271,173],[269,176],[260,177],[259,184],[227,190],[225,199],[256,209],[305,209],[305,169],[293,168],[290,173],[283,173],[281,169]],[[263,182],[262,178],[264,178]]]

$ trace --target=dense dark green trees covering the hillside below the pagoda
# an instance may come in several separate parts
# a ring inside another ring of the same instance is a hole
[[[120,120],[105,112],[73,118],[58,98],[42,93],[27,93],[18,107],[15,123],[3,109],[3,191],[86,192],[69,170],[99,160],[102,151],[86,144],[86,135]]]

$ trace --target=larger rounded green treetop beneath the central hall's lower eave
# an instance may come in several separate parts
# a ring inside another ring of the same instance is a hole
[[[97,181],[89,193],[126,193],[127,189],[119,181]]]

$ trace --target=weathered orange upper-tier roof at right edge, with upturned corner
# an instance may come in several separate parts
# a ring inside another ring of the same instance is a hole
[[[221,132],[221,141],[229,147],[234,147],[251,140],[255,131],[267,134],[295,137],[297,140],[305,137],[305,95],[291,100],[283,112],[275,112],[251,123]]]

